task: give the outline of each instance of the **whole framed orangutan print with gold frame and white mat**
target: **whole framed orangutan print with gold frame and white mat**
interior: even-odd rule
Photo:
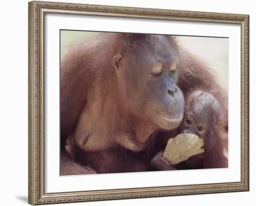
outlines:
[[[29,204],[249,191],[249,15],[28,7]]]

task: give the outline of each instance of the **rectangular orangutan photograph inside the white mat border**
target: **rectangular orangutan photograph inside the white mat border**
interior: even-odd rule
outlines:
[[[228,168],[229,38],[60,30],[60,175]]]

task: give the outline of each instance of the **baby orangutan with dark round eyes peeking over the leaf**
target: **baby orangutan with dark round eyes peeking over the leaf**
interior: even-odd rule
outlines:
[[[167,132],[169,138],[179,133],[191,133],[204,140],[204,153],[190,157],[175,167],[163,155],[163,150],[151,159],[151,166],[157,170],[202,169],[228,167],[225,156],[227,132],[222,127],[222,113],[218,101],[208,92],[195,91],[185,101],[184,118],[177,129],[178,133]]]

